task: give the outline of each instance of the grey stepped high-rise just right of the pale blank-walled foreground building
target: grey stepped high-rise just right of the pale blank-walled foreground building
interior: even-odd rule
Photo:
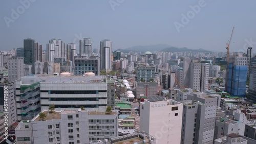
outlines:
[[[181,143],[213,143],[217,98],[206,93],[187,94],[183,103]]]

